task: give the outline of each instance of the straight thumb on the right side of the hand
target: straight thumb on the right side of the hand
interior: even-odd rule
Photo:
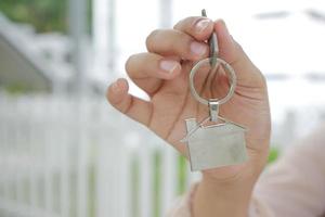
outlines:
[[[235,69],[238,86],[264,87],[263,75],[252,64],[240,44],[230,35],[224,21],[214,22],[214,31],[218,38],[219,56]]]

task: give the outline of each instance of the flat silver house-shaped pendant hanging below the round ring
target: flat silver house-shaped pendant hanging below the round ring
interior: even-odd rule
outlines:
[[[247,159],[245,131],[240,125],[225,120],[202,126],[195,118],[186,119],[192,171],[242,164]]]

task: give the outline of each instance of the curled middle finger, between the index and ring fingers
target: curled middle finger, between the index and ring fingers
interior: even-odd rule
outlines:
[[[154,30],[146,39],[147,50],[160,55],[176,55],[182,60],[197,61],[208,55],[205,42],[176,29]]]

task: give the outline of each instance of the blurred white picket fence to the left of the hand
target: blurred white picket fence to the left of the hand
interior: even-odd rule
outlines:
[[[199,178],[103,98],[0,97],[0,216],[158,217]]]

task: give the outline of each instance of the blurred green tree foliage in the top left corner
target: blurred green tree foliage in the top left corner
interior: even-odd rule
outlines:
[[[88,0],[88,26],[91,0]],[[68,33],[68,0],[0,0],[0,11],[10,20],[29,23],[39,33]]]

